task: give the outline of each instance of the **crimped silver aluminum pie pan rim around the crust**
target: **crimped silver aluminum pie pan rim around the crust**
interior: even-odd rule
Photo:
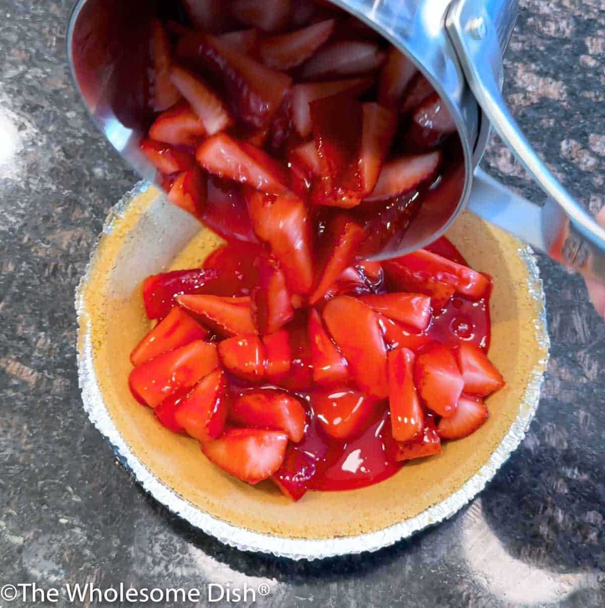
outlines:
[[[206,513],[198,506],[193,505],[192,502],[179,496],[176,491],[156,477],[140,460],[137,454],[134,453],[125,438],[120,434],[116,423],[106,407],[99,378],[97,378],[97,371],[95,370],[90,316],[86,310],[86,303],[83,297],[89,275],[94,271],[95,254],[103,238],[116,229],[117,224],[119,224],[120,219],[128,210],[133,200],[142,193],[147,192],[150,187],[150,184],[140,182],[131,192],[126,193],[122,201],[111,210],[97,246],[92,252],[91,261],[88,264],[85,275],[83,275],[78,286],[75,302],[78,315],[78,382],[83,406],[89,419],[109,441],[120,463],[133,475],[145,491],[162,503],[162,505],[166,506],[172,513],[186,520],[199,530],[204,531],[204,533],[215,537],[218,541],[245,551],[268,553],[294,560],[314,560],[377,551],[398,541],[407,539],[412,534],[440,523],[454,515],[485,488],[500,466],[508,459],[511,452],[519,446],[538,408],[544,370],[548,360],[548,349],[550,348],[542,281],[539,278],[536,258],[530,247],[527,246],[519,246],[517,254],[527,270],[527,292],[534,302],[536,311],[531,329],[534,332],[536,344],[538,344],[544,356],[530,370],[527,386],[525,386],[523,398],[519,403],[518,415],[503,436],[502,441],[500,441],[483,466],[468,478],[460,488],[449,494],[446,499],[428,506],[413,517],[384,527],[381,530],[356,534],[355,536],[303,539],[247,530],[245,527],[233,525],[232,523],[218,519],[218,517],[212,514]],[[195,229],[193,231],[195,232]],[[185,242],[192,234],[193,232],[191,234],[178,232],[177,227],[173,237]]]

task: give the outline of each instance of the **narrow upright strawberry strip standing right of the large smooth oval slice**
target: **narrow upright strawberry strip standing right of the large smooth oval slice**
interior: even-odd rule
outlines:
[[[389,351],[389,409],[393,439],[410,441],[424,429],[424,415],[414,385],[416,356],[407,348]]]

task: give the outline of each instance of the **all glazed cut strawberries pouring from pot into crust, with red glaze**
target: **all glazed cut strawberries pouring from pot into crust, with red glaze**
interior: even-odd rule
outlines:
[[[451,187],[454,122],[407,60],[328,2],[185,0],[144,28],[140,148],[221,235],[152,275],[129,384],[215,465],[292,500],[361,488],[486,420],[491,280],[446,238],[382,263]]]

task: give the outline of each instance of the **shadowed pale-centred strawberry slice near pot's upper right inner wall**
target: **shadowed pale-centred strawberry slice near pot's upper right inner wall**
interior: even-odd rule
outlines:
[[[300,71],[303,78],[365,74],[378,69],[385,54],[377,44],[347,40],[330,44],[311,57]]]

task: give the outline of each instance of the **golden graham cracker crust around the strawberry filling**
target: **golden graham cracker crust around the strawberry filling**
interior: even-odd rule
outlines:
[[[167,213],[153,187],[112,217],[80,288],[80,339],[85,323],[109,416],[151,475],[201,511],[247,530],[327,539],[382,530],[416,516],[460,489],[485,465],[524,407],[531,374],[546,356],[536,337],[538,303],[530,293],[519,241],[470,213],[447,236],[472,268],[494,278],[489,358],[506,385],[488,398],[488,421],[471,437],[444,444],[441,454],[410,461],[368,488],[313,491],[292,503],[272,482],[241,482],[212,465],[196,440],[162,427],[128,390],[130,351],[151,326],[140,283],[148,274],[197,266],[221,239],[178,209]]]

